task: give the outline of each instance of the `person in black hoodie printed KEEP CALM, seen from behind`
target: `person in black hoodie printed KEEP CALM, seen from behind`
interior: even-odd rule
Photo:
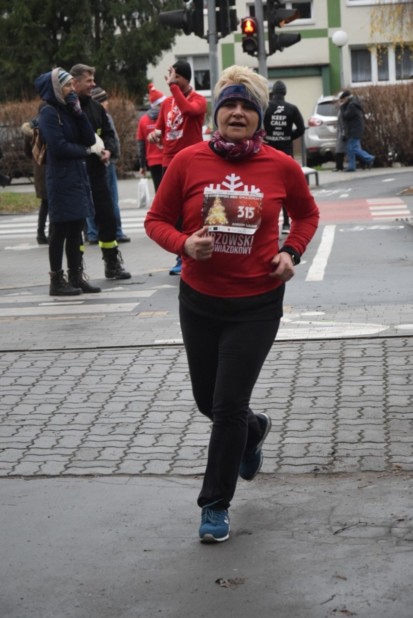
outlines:
[[[280,80],[275,82],[272,98],[264,115],[264,129],[267,132],[264,143],[294,158],[293,141],[304,134],[306,127],[298,107],[285,100],[286,93],[285,83]],[[288,234],[290,221],[284,206],[283,219],[282,234]]]

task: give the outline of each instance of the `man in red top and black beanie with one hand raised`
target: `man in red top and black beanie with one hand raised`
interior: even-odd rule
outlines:
[[[148,142],[162,143],[162,174],[178,152],[186,146],[202,142],[202,125],[207,109],[206,98],[198,95],[190,85],[192,72],[188,62],[178,60],[169,67],[168,72],[165,80],[171,96],[161,104],[156,129],[148,135]],[[178,256],[177,264],[169,274],[181,274],[181,256]]]

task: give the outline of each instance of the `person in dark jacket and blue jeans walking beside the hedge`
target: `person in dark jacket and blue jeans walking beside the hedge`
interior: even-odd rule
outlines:
[[[349,90],[344,90],[340,96],[343,101],[341,112],[343,114],[344,131],[347,138],[348,167],[346,172],[356,171],[356,157],[364,163],[365,167],[373,167],[375,156],[362,149],[361,140],[364,133],[364,112],[362,104]]]

